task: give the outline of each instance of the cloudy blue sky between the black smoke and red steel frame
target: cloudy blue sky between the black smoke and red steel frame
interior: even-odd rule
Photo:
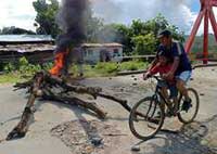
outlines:
[[[162,13],[169,22],[189,31],[195,20],[190,5],[195,0],[91,0],[97,16],[105,23],[130,24],[135,18],[150,20]]]

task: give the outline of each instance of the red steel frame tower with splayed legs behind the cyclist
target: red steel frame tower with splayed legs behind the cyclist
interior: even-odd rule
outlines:
[[[214,29],[214,35],[217,41],[217,23],[214,15],[213,7],[217,7],[217,0],[200,0],[201,1],[201,11],[197,15],[197,18],[193,25],[193,29],[191,35],[186,43],[186,51],[187,53],[190,52],[191,47],[193,44],[195,35],[199,30],[201,22],[204,17],[204,42],[203,42],[203,63],[208,63],[208,20],[210,20],[212,27]]]

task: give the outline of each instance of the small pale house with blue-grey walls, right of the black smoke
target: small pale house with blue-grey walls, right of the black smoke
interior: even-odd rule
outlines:
[[[84,43],[82,57],[85,63],[120,62],[123,46],[120,43]]]

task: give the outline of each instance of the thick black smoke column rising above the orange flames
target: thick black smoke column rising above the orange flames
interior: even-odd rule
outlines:
[[[79,43],[85,39],[88,11],[88,0],[62,0],[56,20],[64,33],[60,40],[68,38],[75,43]]]

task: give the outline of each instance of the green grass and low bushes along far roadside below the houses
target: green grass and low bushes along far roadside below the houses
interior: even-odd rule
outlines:
[[[129,61],[123,63],[100,62],[95,65],[82,65],[84,77],[106,77],[115,76],[118,72],[145,69],[148,62]],[[29,79],[36,72],[49,70],[52,63],[44,65],[30,64],[25,57],[21,57],[17,63],[9,63],[3,68],[3,74],[0,75],[0,84],[13,84]],[[72,76],[76,77],[79,74],[78,65],[72,65],[69,68]]]

